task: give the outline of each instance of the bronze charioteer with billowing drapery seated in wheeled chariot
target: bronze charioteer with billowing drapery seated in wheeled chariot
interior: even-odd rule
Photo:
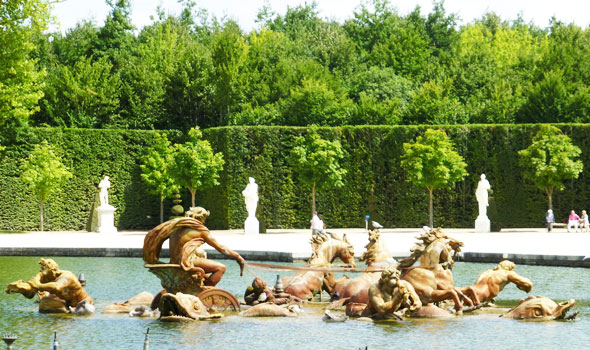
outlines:
[[[153,306],[161,307],[166,293],[183,293],[199,297],[209,310],[239,310],[239,303],[231,293],[212,288],[219,283],[226,268],[222,263],[207,259],[202,245],[207,243],[221,254],[235,259],[240,265],[240,275],[244,269],[244,258],[213,238],[204,225],[208,216],[209,211],[204,208],[192,208],[184,218],[160,224],[146,235],[143,245],[145,267],[160,279],[164,287],[164,291],[154,298]],[[168,264],[159,260],[162,244],[166,240],[169,240],[170,246]]]

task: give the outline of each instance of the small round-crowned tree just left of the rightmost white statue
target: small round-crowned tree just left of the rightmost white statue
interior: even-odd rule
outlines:
[[[432,192],[463,180],[467,176],[467,164],[444,131],[428,129],[415,143],[404,143],[401,166],[408,181],[428,189],[428,222],[434,227]]]

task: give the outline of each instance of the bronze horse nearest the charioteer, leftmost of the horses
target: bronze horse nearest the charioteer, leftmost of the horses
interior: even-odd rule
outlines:
[[[346,235],[341,238],[335,234],[318,234],[311,239],[313,253],[306,266],[328,266],[336,258],[345,264],[356,267],[354,263],[354,247]],[[282,279],[285,293],[289,293],[303,300],[310,300],[315,294],[325,290],[332,294],[334,288],[334,274],[322,271],[302,271],[293,276]]]

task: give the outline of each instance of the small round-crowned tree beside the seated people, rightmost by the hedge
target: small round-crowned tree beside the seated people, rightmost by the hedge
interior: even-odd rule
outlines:
[[[549,209],[553,209],[553,192],[564,188],[564,180],[577,179],[582,172],[584,164],[575,160],[581,153],[567,135],[550,125],[539,130],[529,147],[518,151],[523,176],[545,191]]]

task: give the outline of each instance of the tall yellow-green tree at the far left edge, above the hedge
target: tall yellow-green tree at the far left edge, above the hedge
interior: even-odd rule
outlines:
[[[0,143],[27,124],[43,97],[45,72],[35,66],[33,37],[47,28],[50,2],[8,0],[0,3]]]

